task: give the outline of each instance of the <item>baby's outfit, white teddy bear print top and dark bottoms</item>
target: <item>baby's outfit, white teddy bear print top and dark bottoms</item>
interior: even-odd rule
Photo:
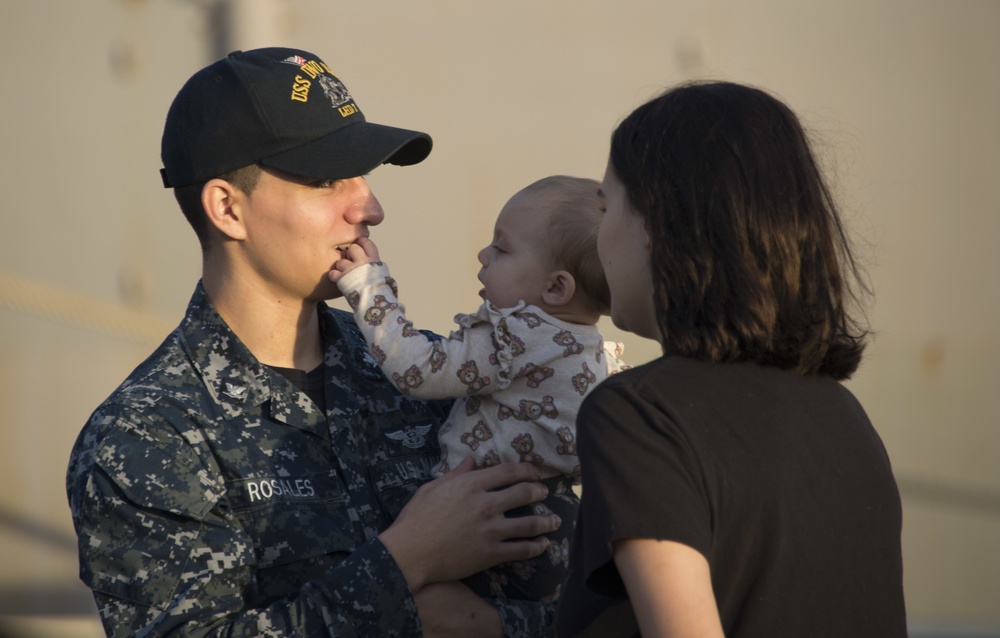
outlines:
[[[340,289],[383,373],[422,399],[454,398],[441,426],[440,476],[473,456],[476,467],[502,462],[539,466],[549,496],[530,506],[552,511],[562,526],[546,554],[504,563],[466,579],[484,597],[554,602],[567,574],[579,500],[576,415],[588,391],[627,366],[619,343],[605,343],[594,325],[568,323],[524,302],[484,302],[455,316],[447,338],[414,329],[396,282],[382,262],[345,274]],[[529,513],[516,510],[508,515]]]

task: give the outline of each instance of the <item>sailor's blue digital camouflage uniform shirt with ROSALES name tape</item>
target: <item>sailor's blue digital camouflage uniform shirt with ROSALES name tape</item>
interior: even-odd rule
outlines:
[[[199,284],[181,325],[91,416],[67,491],[111,636],[419,636],[378,540],[437,456],[447,404],[399,394],[349,313],[319,306],[326,414],[263,366]],[[491,601],[507,636],[551,606]]]

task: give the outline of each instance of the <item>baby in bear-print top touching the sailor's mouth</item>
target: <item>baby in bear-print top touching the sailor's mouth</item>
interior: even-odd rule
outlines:
[[[534,463],[549,487],[534,508],[563,524],[547,554],[467,579],[481,596],[550,602],[566,575],[579,504],[576,414],[591,388],[626,367],[621,344],[606,344],[596,326],[609,310],[597,259],[599,187],[553,176],[511,197],[479,251],[483,304],[457,315],[446,339],[407,320],[371,240],[352,244],[330,272],[385,375],[406,394],[457,399],[440,428],[436,475],[473,456],[477,467]]]

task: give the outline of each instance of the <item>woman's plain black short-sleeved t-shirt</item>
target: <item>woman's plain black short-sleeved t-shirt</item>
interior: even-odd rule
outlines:
[[[578,445],[559,636],[638,635],[612,555],[626,538],[701,552],[730,638],[906,635],[899,493],[836,381],[664,357],[588,396]]]

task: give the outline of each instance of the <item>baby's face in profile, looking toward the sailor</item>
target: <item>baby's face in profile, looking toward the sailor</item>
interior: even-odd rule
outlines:
[[[541,306],[553,272],[548,212],[538,195],[519,193],[500,211],[493,241],[479,251],[479,296],[498,308],[524,301]]]

